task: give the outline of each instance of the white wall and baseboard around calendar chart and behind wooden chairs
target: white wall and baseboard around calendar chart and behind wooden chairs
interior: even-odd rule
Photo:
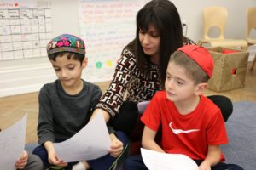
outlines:
[[[79,36],[79,0],[52,0],[53,37],[62,33]],[[203,35],[202,9],[224,6],[229,11],[225,35],[227,38],[245,39],[246,15],[255,0],[172,0],[188,25],[187,37],[197,42]],[[45,58],[0,61],[0,97],[38,91],[45,82],[55,80],[55,73]]]

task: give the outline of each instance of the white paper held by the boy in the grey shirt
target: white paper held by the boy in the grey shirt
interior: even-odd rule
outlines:
[[[111,140],[108,128],[102,114],[88,124],[70,139],[55,143],[55,152],[60,160],[83,161],[93,160],[108,154]]]

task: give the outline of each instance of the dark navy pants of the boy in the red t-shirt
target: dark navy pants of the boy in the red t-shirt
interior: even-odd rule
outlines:
[[[199,166],[201,161],[195,161],[195,163]],[[123,170],[148,170],[148,168],[143,163],[143,157],[141,155],[137,156],[130,156],[125,159],[123,162]],[[225,163],[218,163],[214,167],[211,168],[212,170],[243,170],[243,168],[239,167],[235,164],[225,164]]]

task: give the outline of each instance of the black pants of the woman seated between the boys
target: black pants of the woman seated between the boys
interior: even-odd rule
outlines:
[[[226,122],[233,111],[232,101],[222,95],[212,95],[207,97],[218,106],[224,117],[224,122]],[[134,131],[138,130],[134,128],[137,127],[139,122],[137,103],[125,101],[120,107],[119,114],[115,116],[110,123],[115,130],[125,132],[127,136],[131,137],[133,136],[132,133],[135,133]],[[141,132],[141,134],[142,133],[143,132]]]

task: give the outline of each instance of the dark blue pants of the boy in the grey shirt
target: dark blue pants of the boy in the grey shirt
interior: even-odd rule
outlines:
[[[117,135],[118,139],[124,144],[124,148],[125,148],[126,144],[128,144],[128,138],[125,135],[125,133],[117,131],[116,135]],[[36,147],[33,150],[32,153],[41,158],[45,167],[52,166],[51,164],[49,164],[47,150],[45,150],[44,146],[39,145],[38,147]],[[108,155],[102,156],[102,157],[100,157],[96,160],[90,160],[90,161],[87,161],[87,162],[89,163],[90,168],[93,169],[93,170],[105,170],[105,169],[107,170],[107,169],[109,169],[109,167],[112,166],[115,159],[116,159],[115,157],[110,156],[108,154]],[[68,163],[68,169],[72,169],[72,166],[76,163],[77,162],[69,162]]]

